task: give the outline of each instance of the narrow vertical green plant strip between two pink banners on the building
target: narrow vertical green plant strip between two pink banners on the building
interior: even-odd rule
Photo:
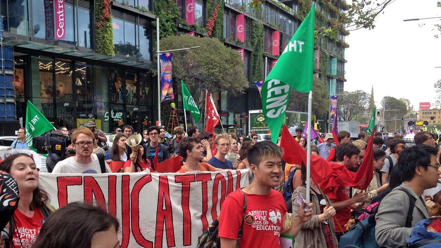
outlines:
[[[251,20],[251,81],[263,80],[263,24]]]

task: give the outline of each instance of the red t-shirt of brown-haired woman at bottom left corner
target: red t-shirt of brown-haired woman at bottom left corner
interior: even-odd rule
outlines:
[[[43,217],[39,208],[35,209],[32,218],[24,215],[18,209],[15,210],[13,216],[16,227],[14,234],[12,235],[13,246],[22,247],[23,245],[23,247],[30,247],[37,239],[41,226],[45,223],[45,217]]]

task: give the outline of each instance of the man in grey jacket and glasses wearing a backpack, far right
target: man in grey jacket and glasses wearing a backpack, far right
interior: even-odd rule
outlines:
[[[406,244],[412,227],[422,220],[429,218],[424,200],[421,197],[425,189],[437,185],[440,171],[436,160],[436,149],[427,145],[416,145],[407,148],[400,154],[397,173],[400,186],[392,189],[381,201],[376,215],[377,224],[375,237],[378,245],[383,245],[387,239]],[[392,180],[391,180],[392,181]],[[411,197],[407,195],[410,193]],[[406,227],[406,216],[409,211],[410,200],[415,201],[412,213],[411,227]]]

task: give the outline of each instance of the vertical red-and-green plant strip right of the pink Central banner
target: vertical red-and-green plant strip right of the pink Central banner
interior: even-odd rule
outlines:
[[[104,55],[115,56],[112,15],[110,14],[110,0],[96,0],[95,9],[96,52]]]

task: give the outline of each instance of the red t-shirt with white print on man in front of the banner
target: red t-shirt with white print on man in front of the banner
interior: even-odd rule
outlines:
[[[239,247],[280,247],[283,217],[286,204],[276,190],[268,195],[247,194],[242,237]],[[237,239],[244,210],[244,195],[236,190],[230,193],[222,205],[219,215],[219,237]]]

